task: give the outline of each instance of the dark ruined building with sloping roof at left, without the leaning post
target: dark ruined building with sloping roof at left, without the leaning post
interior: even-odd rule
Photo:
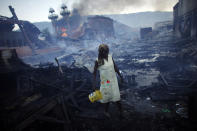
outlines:
[[[13,31],[15,24],[22,24],[25,32]],[[0,16],[0,49],[14,48],[19,56],[30,55],[32,54],[30,42],[39,46],[37,39],[39,34],[40,30],[28,21]]]

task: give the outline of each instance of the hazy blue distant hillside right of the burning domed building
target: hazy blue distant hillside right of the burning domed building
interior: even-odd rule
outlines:
[[[133,28],[153,27],[156,22],[173,20],[173,12],[139,12],[104,16]]]

